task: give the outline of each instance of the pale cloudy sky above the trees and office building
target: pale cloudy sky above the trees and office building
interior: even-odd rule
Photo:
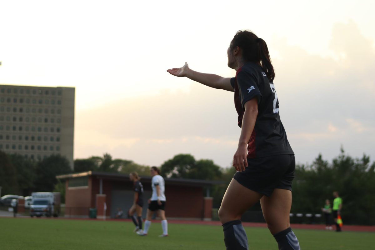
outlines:
[[[339,5],[338,5],[339,4]],[[233,93],[166,69],[225,77],[237,30],[266,40],[299,163],[343,145],[375,160],[374,1],[3,1],[0,84],[76,88],[74,158],[160,165],[178,153],[230,166]]]

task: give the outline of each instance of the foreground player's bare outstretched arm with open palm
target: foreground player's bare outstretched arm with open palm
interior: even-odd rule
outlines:
[[[174,76],[183,77],[186,76],[193,81],[199,82],[203,85],[206,85],[211,88],[217,88],[222,90],[234,91],[231,85],[231,78],[225,78],[214,74],[206,74],[201,72],[196,72],[192,69],[189,69],[187,63],[180,68],[168,69],[168,73]]]

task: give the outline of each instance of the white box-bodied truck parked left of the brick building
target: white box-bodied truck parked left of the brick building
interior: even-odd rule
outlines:
[[[59,192],[35,192],[31,193],[33,203],[30,205],[31,217],[58,217],[60,214]]]

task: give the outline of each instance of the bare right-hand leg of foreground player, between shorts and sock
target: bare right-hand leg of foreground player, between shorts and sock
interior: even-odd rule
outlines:
[[[264,219],[271,234],[290,227],[289,214],[292,206],[292,192],[287,189],[275,189],[270,197],[260,199]]]

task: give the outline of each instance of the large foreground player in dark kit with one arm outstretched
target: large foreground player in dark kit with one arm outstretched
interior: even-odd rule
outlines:
[[[237,172],[219,209],[226,249],[249,248],[240,219],[260,201],[264,219],[279,249],[299,250],[289,223],[296,163],[280,120],[273,83],[275,71],[267,44],[251,31],[238,31],[227,54],[228,66],[236,70],[234,78],[196,72],[187,63],[167,70],[174,76],[186,76],[208,87],[234,92],[241,134],[233,156]]]

